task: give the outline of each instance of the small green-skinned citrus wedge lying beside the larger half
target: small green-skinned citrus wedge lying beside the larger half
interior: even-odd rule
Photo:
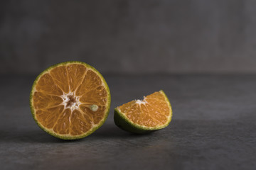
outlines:
[[[146,133],[165,128],[171,122],[172,110],[164,91],[114,108],[114,123],[128,132]]]

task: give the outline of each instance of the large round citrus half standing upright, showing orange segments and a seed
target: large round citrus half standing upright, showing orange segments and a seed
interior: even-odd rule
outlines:
[[[110,89],[100,72],[84,62],[62,62],[33,83],[31,112],[50,135],[76,140],[100,128],[110,111]]]

